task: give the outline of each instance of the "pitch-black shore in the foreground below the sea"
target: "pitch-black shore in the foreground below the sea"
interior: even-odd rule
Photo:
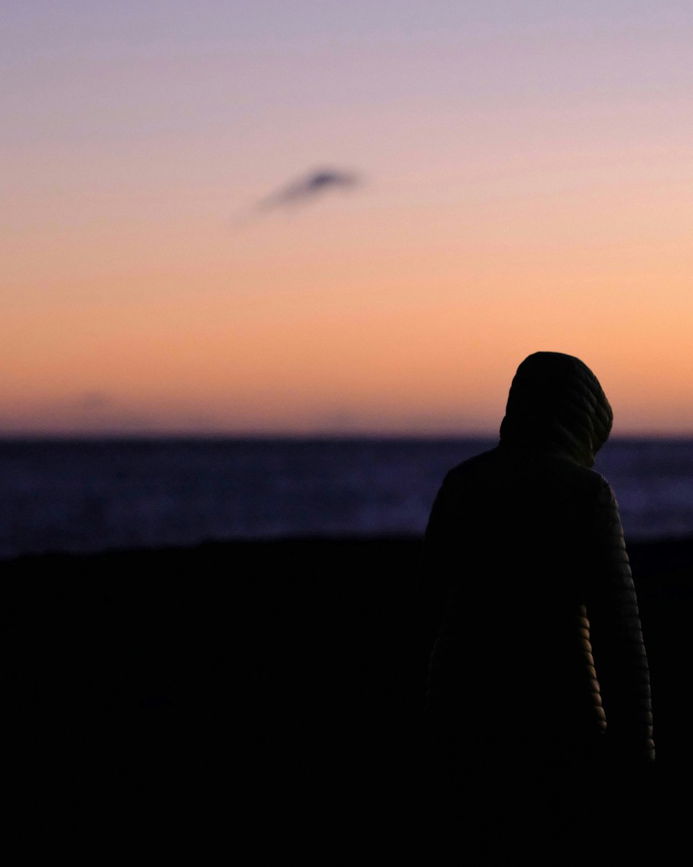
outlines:
[[[332,862],[375,830],[391,853],[433,845],[416,758],[419,551],[304,540],[0,564],[16,812],[42,834],[53,820],[113,845],[137,826],[161,845],[224,838],[232,851],[244,832],[257,857],[324,838]],[[633,786],[667,864],[690,812],[693,540],[629,552],[657,744],[655,772]],[[465,815],[449,817],[462,850]]]

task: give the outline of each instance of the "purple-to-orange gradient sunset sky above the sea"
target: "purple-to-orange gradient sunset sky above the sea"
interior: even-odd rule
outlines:
[[[693,6],[6,0],[0,433],[693,435]]]

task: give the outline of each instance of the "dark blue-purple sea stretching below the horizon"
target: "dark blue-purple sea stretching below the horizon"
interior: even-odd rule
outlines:
[[[497,440],[0,440],[0,557],[292,536],[417,535]],[[626,540],[693,536],[693,440],[612,440]]]

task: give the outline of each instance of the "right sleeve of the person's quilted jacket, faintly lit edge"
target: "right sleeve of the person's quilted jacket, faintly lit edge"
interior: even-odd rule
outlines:
[[[614,758],[625,763],[652,761],[647,655],[619,507],[606,479],[599,489],[594,531],[594,568],[586,607],[607,742]]]

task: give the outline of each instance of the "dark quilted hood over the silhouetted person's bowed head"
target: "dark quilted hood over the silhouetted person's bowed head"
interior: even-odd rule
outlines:
[[[612,407],[586,364],[573,355],[535,352],[510,386],[501,443],[558,452],[593,466],[612,421]]]

